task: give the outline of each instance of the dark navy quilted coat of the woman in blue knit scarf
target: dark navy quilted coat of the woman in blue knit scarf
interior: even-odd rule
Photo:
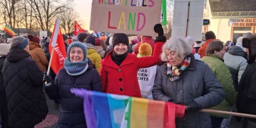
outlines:
[[[51,99],[60,99],[61,113],[57,128],[86,128],[83,109],[83,98],[71,94],[71,88],[83,88],[102,92],[100,76],[91,62],[88,69],[81,75],[70,76],[62,68],[51,86],[44,86],[45,93]],[[71,77],[74,79],[72,81]]]

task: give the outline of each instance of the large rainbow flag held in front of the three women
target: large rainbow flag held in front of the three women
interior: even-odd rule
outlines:
[[[175,118],[182,118],[186,107],[171,102],[85,89],[70,91],[84,98],[88,128],[175,128]]]

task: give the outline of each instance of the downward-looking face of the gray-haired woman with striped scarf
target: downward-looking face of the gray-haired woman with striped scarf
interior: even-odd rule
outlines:
[[[165,50],[165,55],[167,57],[167,61],[169,61],[169,63],[173,66],[179,66],[183,63],[184,61],[184,57],[182,57],[181,59],[177,57],[177,55],[175,54],[175,52],[170,51],[170,50]]]

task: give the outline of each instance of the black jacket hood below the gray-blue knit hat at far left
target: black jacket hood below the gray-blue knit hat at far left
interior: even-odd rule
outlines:
[[[15,63],[26,57],[30,57],[30,54],[25,50],[20,48],[11,48],[6,56],[6,59],[10,63]]]

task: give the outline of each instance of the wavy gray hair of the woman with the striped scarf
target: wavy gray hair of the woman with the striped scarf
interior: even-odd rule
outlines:
[[[160,58],[162,61],[166,62],[167,57],[165,50],[170,50],[175,52],[179,59],[186,57],[191,54],[192,47],[190,44],[182,38],[171,38],[162,46],[162,53]]]

